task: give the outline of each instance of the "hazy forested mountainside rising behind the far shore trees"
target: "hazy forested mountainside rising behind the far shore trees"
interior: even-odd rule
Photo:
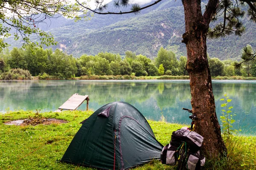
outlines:
[[[116,9],[110,3],[108,11]],[[61,22],[59,22],[61,21]],[[244,19],[246,32],[237,37],[208,40],[207,51],[210,57],[219,59],[239,59],[241,49],[250,44],[256,47],[256,24]],[[149,58],[157,55],[160,47],[176,53],[177,58],[186,56],[185,44],[181,43],[184,28],[184,12],[181,1],[166,0],[138,15],[97,15],[91,20],[74,22],[64,18],[52,21],[49,28],[61,48],[67,54],[80,57],[82,54],[96,55],[99,52],[119,53],[133,51]],[[58,27],[59,25],[59,27]],[[46,25],[41,25],[44,30]],[[10,40],[12,46],[21,46],[21,41]]]

